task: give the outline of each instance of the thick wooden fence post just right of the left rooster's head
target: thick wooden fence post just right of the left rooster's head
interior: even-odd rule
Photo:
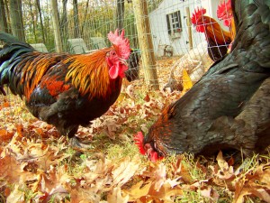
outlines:
[[[132,3],[138,30],[139,49],[141,50],[144,77],[148,85],[155,89],[159,89],[157,80],[156,59],[154,55],[150,23],[148,19],[147,1],[133,0]]]

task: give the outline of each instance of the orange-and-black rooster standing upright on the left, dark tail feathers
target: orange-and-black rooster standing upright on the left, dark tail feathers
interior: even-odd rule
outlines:
[[[121,92],[128,69],[130,42],[124,31],[108,34],[111,48],[88,54],[43,53],[14,36],[0,32],[0,91],[6,84],[14,95],[25,98],[32,115],[56,126],[70,143],[78,126],[103,115]]]

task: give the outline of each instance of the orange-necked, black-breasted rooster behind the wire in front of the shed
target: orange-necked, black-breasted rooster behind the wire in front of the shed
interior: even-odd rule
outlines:
[[[208,54],[213,61],[220,60],[228,51],[231,41],[230,32],[222,30],[220,24],[213,18],[204,15],[206,9],[195,9],[192,16],[192,23],[197,32],[204,32],[208,43]]]

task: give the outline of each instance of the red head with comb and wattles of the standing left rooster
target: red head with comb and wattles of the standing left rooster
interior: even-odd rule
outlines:
[[[118,34],[118,30],[108,34],[108,39],[112,42],[113,50],[108,52],[106,60],[110,66],[109,74],[111,78],[125,77],[125,71],[128,69],[126,60],[130,57],[130,41],[124,38],[124,30]]]

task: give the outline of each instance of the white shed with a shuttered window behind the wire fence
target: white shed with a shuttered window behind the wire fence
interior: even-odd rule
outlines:
[[[161,2],[157,9],[149,14],[155,54],[163,56],[166,45],[173,47],[174,55],[182,55],[189,51],[186,7],[189,8],[192,16],[194,8],[202,6],[206,9],[207,15],[219,22],[216,14],[219,4],[219,0],[164,0]],[[193,47],[205,41],[204,33],[196,32],[193,27],[192,37]]]

